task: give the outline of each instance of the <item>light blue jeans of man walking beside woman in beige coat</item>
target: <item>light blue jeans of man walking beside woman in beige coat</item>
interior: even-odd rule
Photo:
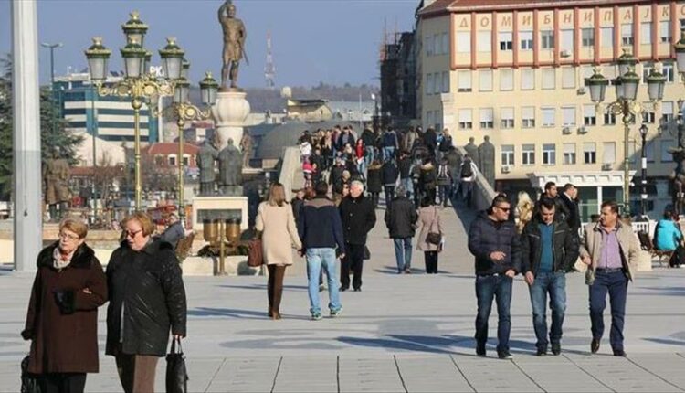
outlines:
[[[328,308],[331,311],[338,311],[342,308],[340,303],[340,292],[338,292],[338,276],[335,259],[335,249],[308,249],[307,250],[307,272],[309,273],[310,313],[321,313],[319,304],[319,273],[321,267],[326,271],[328,277]]]

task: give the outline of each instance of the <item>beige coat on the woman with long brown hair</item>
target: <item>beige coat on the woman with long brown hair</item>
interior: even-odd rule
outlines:
[[[291,265],[292,245],[302,248],[295,218],[290,204],[270,206],[268,202],[259,204],[255,228],[262,232],[261,244],[264,263],[268,265]]]

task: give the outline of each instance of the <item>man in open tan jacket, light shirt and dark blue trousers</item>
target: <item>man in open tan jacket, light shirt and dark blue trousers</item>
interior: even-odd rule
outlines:
[[[639,243],[633,228],[622,224],[616,201],[602,204],[599,222],[585,226],[580,256],[588,268],[585,283],[590,286],[590,321],[595,354],[604,334],[606,293],[611,302],[611,333],[609,341],[614,356],[626,356],[623,347],[623,324],[626,317],[628,281],[635,277]]]

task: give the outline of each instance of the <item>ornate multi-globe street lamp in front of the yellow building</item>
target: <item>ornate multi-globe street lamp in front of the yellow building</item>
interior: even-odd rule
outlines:
[[[685,45],[683,45],[685,48]],[[685,58],[683,59],[685,61]],[[637,58],[630,55],[627,50],[618,58],[618,69],[620,75],[613,81],[616,88],[617,101],[607,104],[607,111],[617,115],[623,115],[624,128],[624,174],[623,174],[623,204],[624,212],[630,213],[630,158],[628,156],[630,140],[630,124],[635,121],[638,113],[646,111],[645,105],[636,101],[638,97],[638,86],[640,77],[635,72]],[[585,80],[590,89],[590,99],[597,106],[605,101],[607,80],[595,69],[595,74]],[[656,106],[663,99],[664,83],[666,78],[656,70],[652,69],[647,78],[648,96],[653,106]],[[642,132],[642,130],[640,130]],[[644,209],[643,209],[644,214]]]

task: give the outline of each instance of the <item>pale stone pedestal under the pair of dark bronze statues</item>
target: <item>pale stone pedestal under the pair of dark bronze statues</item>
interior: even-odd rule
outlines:
[[[240,219],[240,229],[248,229],[248,197],[194,197],[193,230],[202,231],[204,219]]]

